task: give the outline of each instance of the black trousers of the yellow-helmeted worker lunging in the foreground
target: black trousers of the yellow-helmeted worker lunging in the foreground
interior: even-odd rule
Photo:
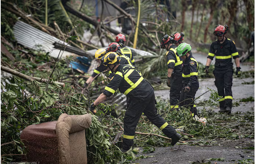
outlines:
[[[144,113],[153,124],[160,128],[167,137],[172,138],[174,134],[177,133],[176,130],[157,113],[154,93],[145,100],[131,98],[131,103],[124,116],[124,150],[129,150],[130,147],[133,146],[135,129],[142,113]]]

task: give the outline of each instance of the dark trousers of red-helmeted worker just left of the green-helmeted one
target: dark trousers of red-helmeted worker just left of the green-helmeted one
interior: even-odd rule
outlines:
[[[171,87],[170,87],[170,105],[171,108],[178,108],[178,100],[180,99],[180,92],[182,90],[182,76],[174,75],[171,78]]]

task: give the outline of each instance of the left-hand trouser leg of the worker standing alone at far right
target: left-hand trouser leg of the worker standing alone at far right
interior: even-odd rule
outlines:
[[[215,86],[217,87],[218,90],[218,95],[222,96],[224,98],[225,93],[224,93],[224,74],[223,71],[218,71],[218,70],[214,70],[213,74],[215,76]],[[219,99],[219,107],[220,108],[224,108],[225,106],[225,99]]]

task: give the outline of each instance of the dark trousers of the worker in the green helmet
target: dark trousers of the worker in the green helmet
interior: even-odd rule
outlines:
[[[184,106],[185,108],[188,108],[188,106],[190,106],[190,111],[192,113],[192,116],[195,116],[197,115],[196,105],[189,105],[189,104],[195,104],[195,102],[193,101],[195,100],[196,91],[199,88],[199,82],[191,85],[188,93],[184,93],[185,86],[186,85],[183,85],[183,88],[180,93],[180,102],[184,101],[185,99],[188,99],[188,100],[185,100],[184,102],[182,102],[180,106]]]

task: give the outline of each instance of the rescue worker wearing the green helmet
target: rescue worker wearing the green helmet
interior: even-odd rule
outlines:
[[[193,101],[195,100],[196,91],[199,88],[199,82],[197,79],[198,75],[198,64],[195,58],[193,58],[191,53],[191,46],[187,43],[181,43],[177,47],[177,53],[183,60],[182,67],[182,84],[183,88],[180,94],[180,102],[182,106],[186,108],[190,106],[190,111],[193,117],[197,115],[196,105]],[[189,105],[191,104],[191,105]]]

